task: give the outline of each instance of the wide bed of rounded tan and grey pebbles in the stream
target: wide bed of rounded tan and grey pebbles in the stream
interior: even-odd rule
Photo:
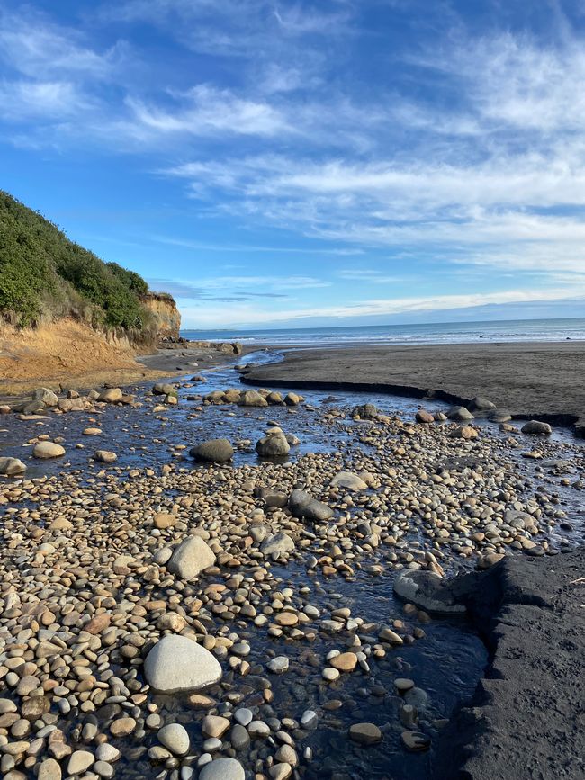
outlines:
[[[127,398],[110,390],[104,402]],[[112,468],[85,454],[79,468],[38,463],[47,477],[27,480],[20,471],[0,481],[3,776],[303,776],[310,731],[317,746],[320,729],[349,729],[347,751],[383,740],[374,723],[348,720],[373,717],[392,691],[398,707],[384,710],[384,731],[401,733],[405,749],[428,749],[418,731],[429,724],[428,695],[393,676],[418,676],[418,662],[411,668],[401,646],[424,641],[430,617],[406,605],[401,615],[370,622],[367,600],[349,603],[345,595],[389,569],[441,577],[454,561],[488,567],[505,555],[563,548],[551,537],[564,530],[559,477],[567,471],[550,465],[560,462],[563,444],[540,438],[527,460],[499,431],[467,425],[464,413],[455,415],[463,425],[430,425],[444,417],[437,412],[415,425],[364,406],[354,422],[347,409],[326,404],[305,418],[278,393],[254,392],[286,414],[284,430],[294,426],[289,446],[316,431],[322,415],[338,452],[297,459],[291,451],[286,464],[211,459],[193,471],[180,425],[166,427],[168,408],[154,417],[151,397],[139,391],[141,407],[117,406],[103,417],[132,437],[130,446],[118,444]],[[249,415],[234,444],[221,444],[228,462],[230,453],[253,453],[253,426],[266,428],[267,438],[282,435],[264,403],[238,409],[236,395],[225,410],[193,399],[172,411],[228,435],[229,414]],[[73,462],[75,431],[103,433],[95,425],[101,408],[85,408],[78,427],[58,408],[18,420],[22,430],[31,426],[27,457],[65,454],[65,444]],[[156,420],[154,437],[139,427],[141,414]],[[570,490],[582,469],[572,455],[566,462]],[[288,656],[270,658],[268,650],[263,658],[266,634]],[[236,752],[241,762],[230,758]],[[323,771],[341,776],[344,760],[331,752]]]

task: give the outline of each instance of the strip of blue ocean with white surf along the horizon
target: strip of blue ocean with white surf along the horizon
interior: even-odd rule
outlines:
[[[181,331],[193,341],[239,341],[246,345],[340,346],[352,344],[468,344],[475,341],[566,341],[585,339],[585,318],[510,319],[425,325],[353,327],[226,328]]]

